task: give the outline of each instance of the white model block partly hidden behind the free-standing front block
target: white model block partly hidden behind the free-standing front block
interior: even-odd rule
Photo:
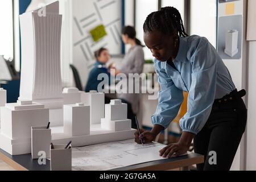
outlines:
[[[96,91],[82,93],[81,102],[90,106],[90,124],[100,124],[105,115],[105,94]]]

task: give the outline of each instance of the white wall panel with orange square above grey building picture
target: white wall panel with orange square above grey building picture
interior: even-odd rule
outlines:
[[[242,2],[219,0],[217,51],[223,60],[240,60],[242,57]]]

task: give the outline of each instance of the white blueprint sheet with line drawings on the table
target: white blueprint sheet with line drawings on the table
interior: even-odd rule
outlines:
[[[134,139],[72,149],[74,171],[103,171],[164,159],[160,143],[137,144]]]

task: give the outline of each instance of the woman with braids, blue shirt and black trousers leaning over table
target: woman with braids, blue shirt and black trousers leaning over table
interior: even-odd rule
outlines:
[[[174,7],[148,15],[143,29],[161,90],[151,117],[154,127],[135,133],[135,142],[151,142],[166,129],[180,109],[183,92],[188,92],[188,110],[180,119],[181,138],[160,150],[160,156],[185,154],[193,140],[195,152],[205,156],[197,169],[229,170],[246,127],[245,90],[237,91],[228,68],[206,38],[186,34]]]

